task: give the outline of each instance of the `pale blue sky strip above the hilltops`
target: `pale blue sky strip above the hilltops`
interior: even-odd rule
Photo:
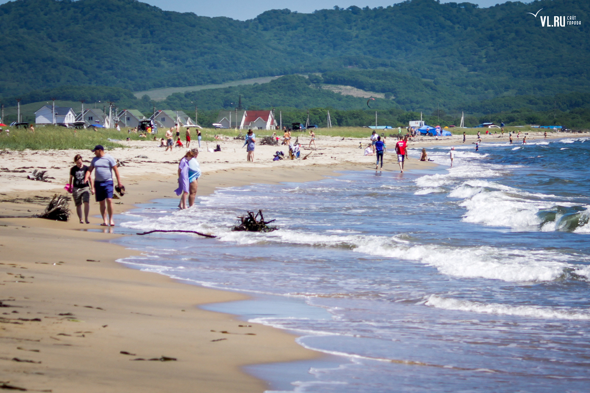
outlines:
[[[480,7],[489,7],[501,4],[506,0],[454,0],[457,3],[470,2],[478,4]],[[0,4],[6,3],[7,0],[0,0]],[[388,6],[401,2],[401,0],[254,0],[246,2],[244,0],[144,0],[151,5],[155,5],[166,11],[194,12],[201,16],[228,16],[229,18],[246,19],[255,18],[269,9],[289,8],[297,12],[313,12],[316,9],[333,8],[338,5],[342,8],[348,8],[351,5],[363,8],[369,6],[375,8],[378,6]],[[447,2],[442,0],[442,2]]]

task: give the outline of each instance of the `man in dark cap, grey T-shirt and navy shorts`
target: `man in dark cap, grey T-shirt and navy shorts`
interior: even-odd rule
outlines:
[[[94,174],[94,196],[96,197],[96,202],[100,204],[100,215],[103,216],[101,226],[114,226],[112,170],[114,170],[114,175],[117,177],[117,186],[123,188],[119,177],[117,161],[110,154],[105,154],[104,147],[101,145],[94,146],[92,151],[95,157],[90,162],[90,166],[86,171],[84,183],[90,179],[90,174],[96,169],[96,174]],[[108,222],[107,213],[109,213]]]

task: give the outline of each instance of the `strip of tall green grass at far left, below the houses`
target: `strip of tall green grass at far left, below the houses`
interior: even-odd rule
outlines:
[[[105,148],[123,147],[118,141],[124,141],[127,137],[132,140],[145,140],[139,134],[113,129],[99,128],[93,131],[91,128],[85,130],[74,130],[58,126],[38,126],[35,133],[28,128],[9,128],[10,133],[0,133],[0,148],[11,150],[61,150],[61,149],[90,149],[97,144]],[[149,137],[148,137],[149,138]],[[153,136],[151,137],[153,139]],[[110,139],[110,140],[109,140]]]

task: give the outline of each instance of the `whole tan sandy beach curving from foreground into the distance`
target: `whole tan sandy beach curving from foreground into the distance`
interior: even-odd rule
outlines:
[[[467,143],[476,139],[467,138]],[[540,138],[542,133],[527,136],[530,141]],[[424,138],[409,147],[450,146],[461,140]],[[506,140],[484,137],[484,143]],[[301,143],[307,142],[308,137],[301,137]],[[185,149],[170,153],[155,141],[122,143],[128,147],[108,152],[123,162],[120,173],[127,189],[114,201],[116,213],[175,197],[176,168]],[[216,153],[202,143],[198,196],[219,187],[311,181],[339,170],[375,169],[375,156],[362,156],[359,148],[359,143],[366,147],[368,138],[317,137],[317,148],[302,152],[311,153],[306,160],[272,161],[274,151],[285,147],[257,146],[254,163],[245,161],[243,141],[217,143],[222,151]],[[91,202],[90,224],[78,224],[75,211],[69,222],[14,218],[38,214],[53,194],[65,194],[78,153],[87,161],[92,157],[90,151],[78,150],[0,151],[0,386],[53,392],[261,392],[266,382],[245,374],[242,366],[318,356],[283,331],[198,308],[245,295],[186,285],[117,263],[136,251],[109,243],[120,235],[117,227],[99,226],[97,203]],[[386,154],[384,170],[399,171],[394,157]],[[406,170],[435,165],[410,159]],[[47,170],[51,183],[28,180],[33,169]]]

